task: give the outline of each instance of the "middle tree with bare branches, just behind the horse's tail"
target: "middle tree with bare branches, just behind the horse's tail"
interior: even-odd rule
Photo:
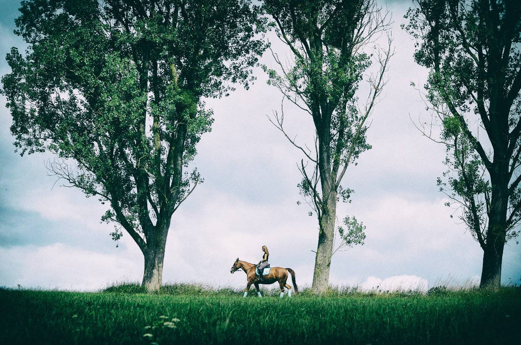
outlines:
[[[283,127],[283,106],[281,114],[274,112],[271,119],[307,161],[300,162],[299,188],[318,219],[313,289],[323,292],[329,281],[337,203],[348,201],[352,192],[340,183],[348,166],[370,149],[366,121],[386,83],[391,40],[388,36],[384,50],[374,44],[388,29],[389,18],[374,0],[266,0],[264,6],[293,59],[288,65],[274,53],[279,71],[265,68],[269,83],[280,90],[283,100],[310,115],[315,127],[315,142],[299,144]],[[376,55],[369,46],[374,46]],[[377,72],[368,77],[369,95],[361,104],[357,90],[375,59]]]

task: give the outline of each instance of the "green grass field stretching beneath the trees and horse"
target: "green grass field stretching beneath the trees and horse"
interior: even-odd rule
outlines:
[[[515,287],[303,291],[291,299],[187,285],[141,292],[132,285],[97,293],[0,289],[0,344],[521,343]]]

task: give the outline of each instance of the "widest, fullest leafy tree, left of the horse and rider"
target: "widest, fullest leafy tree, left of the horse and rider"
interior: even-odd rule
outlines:
[[[252,81],[265,20],[247,0],[32,0],[2,78],[15,146],[57,155],[48,168],[110,205],[158,290],[173,213],[201,178],[187,171],[230,83]]]

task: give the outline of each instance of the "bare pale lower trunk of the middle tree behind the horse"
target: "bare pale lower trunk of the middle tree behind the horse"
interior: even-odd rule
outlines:
[[[325,292],[329,286],[329,269],[333,255],[334,225],[337,214],[337,194],[331,193],[319,219],[318,246],[315,256],[315,272],[312,289],[315,293]]]

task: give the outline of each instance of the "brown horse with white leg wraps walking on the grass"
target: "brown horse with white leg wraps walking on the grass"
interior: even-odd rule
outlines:
[[[295,282],[295,272],[291,268],[271,267],[269,274],[263,276],[262,280],[257,278],[254,264],[241,261],[239,258],[237,258],[237,260],[235,260],[231,266],[230,273],[235,273],[238,269],[242,269],[246,273],[246,279],[248,280],[246,284],[246,291],[244,291],[243,297],[246,297],[252,284],[255,285],[258,297],[262,297],[259,284],[273,284],[276,281],[278,281],[280,285],[280,298],[282,298],[284,295],[284,288],[288,289],[288,297],[291,297],[291,286],[286,284],[286,280],[288,280],[288,273],[291,274],[291,280],[293,281],[293,286],[295,287],[295,293],[299,293],[299,288],[296,286]]]

